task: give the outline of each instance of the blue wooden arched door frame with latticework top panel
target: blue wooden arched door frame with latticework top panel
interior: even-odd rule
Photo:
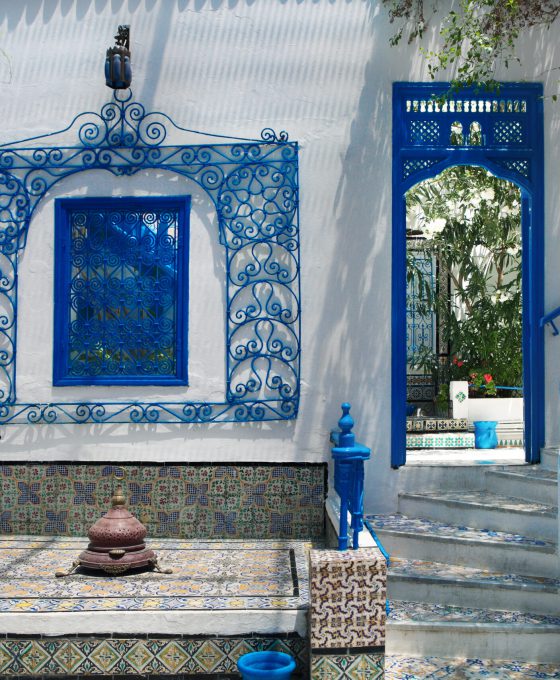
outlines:
[[[537,463],[544,444],[543,89],[502,83],[499,93],[465,88],[444,99],[449,88],[393,85],[391,465],[406,462],[406,192],[456,165],[482,166],[521,189],[525,457]],[[457,124],[459,143],[451,140]]]

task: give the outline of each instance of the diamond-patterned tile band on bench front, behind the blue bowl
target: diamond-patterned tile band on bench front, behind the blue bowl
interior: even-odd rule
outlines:
[[[192,676],[232,673],[237,660],[254,651],[281,651],[308,664],[300,637],[251,638],[17,638],[0,639],[2,677]],[[238,677],[238,676],[237,676]]]

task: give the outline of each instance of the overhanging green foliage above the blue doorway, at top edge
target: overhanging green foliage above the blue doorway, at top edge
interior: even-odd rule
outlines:
[[[409,43],[421,41],[439,4],[437,0],[382,2],[391,22],[396,22],[393,45],[403,38]],[[455,67],[453,90],[462,85],[496,89],[497,66],[519,62],[515,48],[520,35],[534,27],[549,28],[559,14],[560,0],[459,0],[456,9],[441,16],[441,46],[435,51],[421,47],[430,76],[435,79],[440,71]]]

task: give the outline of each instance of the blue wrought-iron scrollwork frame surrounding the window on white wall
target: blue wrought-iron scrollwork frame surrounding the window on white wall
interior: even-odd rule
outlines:
[[[213,141],[177,144],[184,133]],[[61,143],[68,135],[74,143]],[[174,143],[164,145],[171,138]],[[224,402],[18,403],[16,273],[35,208],[56,182],[77,172],[133,175],[152,168],[196,182],[216,208],[226,250]],[[246,139],[187,130],[166,114],[146,113],[130,90],[117,90],[100,113],[0,146],[0,423],[292,419],[299,404],[299,338],[298,145],[285,132],[266,129],[261,139]]]

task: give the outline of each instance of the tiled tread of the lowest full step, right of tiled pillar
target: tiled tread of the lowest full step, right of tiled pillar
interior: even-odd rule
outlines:
[[[526,614],[525,612],[497,611],[493,609],[471,609],[431,602],[405,602],[391,600],[389,620],[391,621],[453,621],[461,623],[510,623],[558,626],[560,616],[547,614]],[[560,634],[560,630],[559,630]]]

